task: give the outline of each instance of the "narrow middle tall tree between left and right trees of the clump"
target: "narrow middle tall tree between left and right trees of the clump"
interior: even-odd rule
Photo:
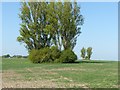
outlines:
[[[52,44],[61,50],[61,37],[60,37],[60,15],[62,9],[62,2],[50,2],[47,8],[47,21],[49,24],[46,26],[46,30],[51,35]]]

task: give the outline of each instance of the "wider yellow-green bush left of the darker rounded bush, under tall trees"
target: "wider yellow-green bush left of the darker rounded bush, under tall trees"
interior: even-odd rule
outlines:
[[[33,63],[54,62],[60,57],[60,51],[57,47],[46,47],[40,50],[31,50],[29,59]]]

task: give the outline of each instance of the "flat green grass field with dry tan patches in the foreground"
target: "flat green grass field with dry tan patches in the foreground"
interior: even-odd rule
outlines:
[[[2,87],[117,88],[117,61],[33,64],[27,59],[2,60]]]

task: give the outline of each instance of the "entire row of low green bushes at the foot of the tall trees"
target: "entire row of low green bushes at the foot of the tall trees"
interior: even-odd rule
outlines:
[[[40,50],[31,50],[29,59],[33,63],[45,63],[45,62],[59,62],[59,63],[73,63],[77,60],[75,53],[70,50],[63,50],[62,52],[56,47],[46,47]]]

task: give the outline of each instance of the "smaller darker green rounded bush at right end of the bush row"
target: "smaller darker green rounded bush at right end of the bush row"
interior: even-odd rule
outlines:
[[[61,63],[73,63],[75,60],[77,60],[76,54],[72,50],[68,49],[62,51],[58,61]]]

